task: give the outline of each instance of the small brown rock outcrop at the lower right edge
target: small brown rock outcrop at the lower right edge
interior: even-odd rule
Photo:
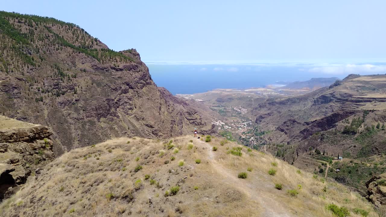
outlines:
[[[386,173],[372,176],[366,182],[367,198],[377,207],[386,206]]]

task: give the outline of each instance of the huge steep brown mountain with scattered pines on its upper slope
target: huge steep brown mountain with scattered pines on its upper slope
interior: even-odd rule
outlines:
[[[0,112],[52,128],[56,156],[112,137],[213,130],[212,115],[158,88],[135,49],[78,25],[0,12]]]

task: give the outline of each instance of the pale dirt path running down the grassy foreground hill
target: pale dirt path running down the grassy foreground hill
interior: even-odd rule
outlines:
[[[291,217],[291,215],[288,214],[288,209],[283,207],[283,204],[279,204],[278,201],[274,200],[274,195],[266,192],[269,187],[266,186],[264,181],[254,177],[252,181],[258,183],[251,183],[251,180],[242,180],[237,178],[237,174],[235,174],[234,171],[225,168],[222,164],[215,160],[215,153],[213,153],[212,146],[210,146],[210,144],[200,140],[195,142],[195,144],[200,147],[204,147],[207,150],[208,160],[211,161],[213,168],[218,172],[218,174],[223,176],[224,180],[227,180],[229,183],[237,183],[237,185],[234,185],[235,188],[237,188],[240,192],[245,193],[247,197],[261,205],[264,211],[260,216]]]

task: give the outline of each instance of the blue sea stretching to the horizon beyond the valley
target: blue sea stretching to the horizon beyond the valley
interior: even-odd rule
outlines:
[[[355,67],[348,64],[331,66],[329,64],[146,63],[146,65],[157,86],[165,87],[174,95],[202,93],[215,88],[260,87],[275,84],[277,81],[293,82],[329,77],[343,79],[351,73],[375,74],[361,64],[354,65]],[[379,69],[381,66],[374,67]],[[380,69],[382,71],[383,68]],[[385,69],[386,67],[383,70]]]

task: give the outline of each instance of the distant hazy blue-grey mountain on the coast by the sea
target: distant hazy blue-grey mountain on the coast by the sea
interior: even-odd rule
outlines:
[[[308,90],[317,90],[319,88],[330,86],[336,80],[340,80],[339,78],[311,78],[308,81],[295,81],[292,83],[283,86],[283,89],[308,89]]]

